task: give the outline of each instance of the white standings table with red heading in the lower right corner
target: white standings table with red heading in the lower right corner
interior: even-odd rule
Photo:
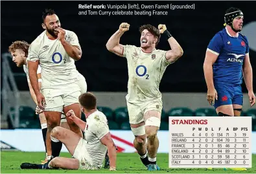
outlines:
[[[250,116],[170,116],[170,168],[251,168]]]

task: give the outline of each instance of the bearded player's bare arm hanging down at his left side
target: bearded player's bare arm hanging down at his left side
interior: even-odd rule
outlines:
[[[33,89],[33,94],[36,94],[36,96],[40,94],[37,76],[38,65],[39,61],[28,61],[30,85]]]

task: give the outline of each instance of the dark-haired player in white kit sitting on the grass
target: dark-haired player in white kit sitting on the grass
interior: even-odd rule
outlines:
[[[84,139],[63,127],[54,127],[51,140],[62,142],[74,158],[55,157],[46,164],[21,164],[21,169],[100,169],[106,151],[110,157],[110,170],[116,168],[117,152],[111,138],[106,116],[97,110],[96,97],[91,92],[79,96],[82,112],[86,115],[86,122],[76,117],[73,110],[69,110],[66,118],[72,120],[81,130]]]

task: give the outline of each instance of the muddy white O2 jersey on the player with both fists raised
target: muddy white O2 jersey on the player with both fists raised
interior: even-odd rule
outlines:
[[[161,100],[159,84],[169,61],[165,50],[143,52],[141,47],[124,45],[123,57],[128,63],[128,94],[127,102],[141,103],[148,100]]]

